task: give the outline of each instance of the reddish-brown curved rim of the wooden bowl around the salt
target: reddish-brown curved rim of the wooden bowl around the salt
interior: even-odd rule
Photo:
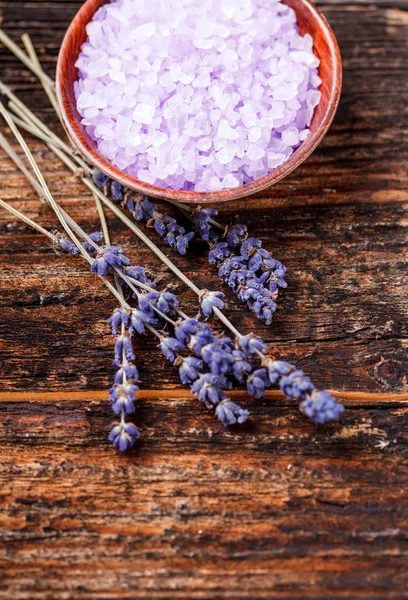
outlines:
[[[90,162],[95,167],[109,175],[111,179],[118,181],[119,183],[133,191],[145,194],[147,196],[164,200],[184,202],[188,204],[209,204],[238,200],[240,198],[246,198],[248,196],[251,196],[256,192],[260,192],[274,185],[283,177],[289,175],[292,171],[294,171],[294,169],[296,169],[303,161],[305,161],[310,156],[310,154],[316,149],[316,147],[326,135],[333,121],[334,115],[339,105],[341,95],[342,64],[340,50],[338,47],[336,37],[327,19],[319,11],[319,9],[309,0],[296,0],[296,2],[302,4],[303,8],[306,11],[308,11],[311,16],[314,17],[314,19],[320,27],[322,36],[327,44],[328,60],[331,60],[332,64],[332,81],[330,89],[328,90],[327,105],[324,113],[321,116],[319,126],[316,128],[315,131],[310,132],[306,140],[304,140],[300,144],[300,146],[294,151],[294,153],[288,158],[288,160],[285,161],[281,166],[271,171],[270,173],[267,173],[266,175],[263,175],[259,179],[255,179],[250,183],[240,185],[236,188],[223,189],[213,192],[195,192],[161,188],[159,186],[145,183],[139,179],[127,175],[126,173],[112,165],[95,149],[90,147],[83,130],[78,125],[77,115],[75,114],[76,107],[74,108],[69,100],[69,94],[66,85],[65,75],[68,68],[68,60],[75,32],[77,31],[78,27],[83,27],[84,15],[88,10],[88,6],[94,2],[95,0],[86,0],[86,2],[84,2],[84,4],[74,16],[67,32],[65,33],[58,54],[56,72],[56,93],[62,114],[62,120],[70,139],[73,141],[73,143],[81,152],[81,154],[83,154],[83,156],[88,160],[88,162]],[[293,4],[293,0],[282,0],[282,2],[283,4]]]

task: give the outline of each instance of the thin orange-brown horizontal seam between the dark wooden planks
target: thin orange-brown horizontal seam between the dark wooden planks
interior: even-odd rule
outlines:
[[[406,394],[376,394],[366,392],[341,392],[339,390],[330,390],[339,400],[342,400],[345,406],[376,408],[379,404],[408,406],[408,393]],[[231,399],[238,400],[248,398],[245,390],[230,390],[228,396]],[[67,402],[74,401],[104,401],[108,397],[107,390],[88,390],[75,392],[0,392],[0,403],[4,402]],[[161,398],[163,400],[195,400],[196,397],[187,390],[178,389],[158,389],[158,390],[139,390],[137,397],[140,400],[151,400]],[[277,390],[268,390],[264,396],[265,400],[284,400],[285,397]]]

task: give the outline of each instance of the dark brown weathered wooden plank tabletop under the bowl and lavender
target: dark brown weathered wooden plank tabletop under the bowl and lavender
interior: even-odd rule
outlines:
[[[1,1],[2,26],[15,40],[28,31],[53,74],[80,4]],[[341,422],[316,427],[279,394],[242,393],[252,418],[225,430],[144,336],[142,439],[118,455],[106,440],[115,302],[79,259],[1,212],[1,599],[408,598],[408,4],[321,8],[344,64],[330,133],[285,181],[222,218],[239,215],[288,267],[272,326],[230,294],[229,316],[337,390]],[[58,129],[5,49],[0,73]],[[85,188],[30,145],[55,197],[94,230]],[[2,198],[55,226],[4,154],[0,183]],[[135,260],[161,269],[112,215],[109,224]],[[202,244],[187,259],[166,251],[200,285],[221,285]]]

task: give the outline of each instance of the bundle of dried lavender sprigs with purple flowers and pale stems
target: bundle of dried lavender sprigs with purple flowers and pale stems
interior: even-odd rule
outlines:
[[[20,50],[20,52],[22,51]],[[37,65],[37,74],[38,68]],[[45,78],[42,80],[43,82],[47,81]],[[248,392],[256,398],[262,397],[267,387],[271,385],[278,386],[289,399],[298,401],[301,411],[317,423],[325,423],[328,420],[339,417],[343,407],[328,392],[318,391],[309,378],[302,371],[297,370],[294,365],[284,361],[274,361],[266,356],[265,345],[259,338],[256,338],[252,334],[242,335],[222,313],[223,294],[221,292],[200,290],[190,281],[145,236],[139,227],[130,221],[109,200],[106,194],[95,185],[95,182],[90,178],[92,173],[91,167],[81,157],[78,157],[68,144],[60,140],[39,121],[1,82],[0,87],[11,101],[9,106],[13,110],[14,116],[11,116],[3,106],[0,106],[0,110],[29,158],[40,184],[40,195],[45,196],[58,216],[65,232],[68,234],[69,239],[66,239],[62,245],[60,241],[60,247],[65,245],[66,249],[71,252],[82,254],[88,262],[90,254],[94,254],[94,258],[91,259],[91,269],[103,278],[105,284],[108,285],[109,289],[113,291],[114,295],[120,301],[120,308],[111,317],[111,324],[114,331],[117,332],[120,327],[121,332],[116,341],[115,366],[118,368],[117,379],[115,379],[114,387],[111,390],[112,407],[115,412],[121,414],[121,422],[115,425],[111,432],[111,439],[115,446],[121,450],[125,450],[135,443],[139,435],[137,428],[134,425],[130,426],[130,424],[127,424],[124,417],[129,412],[133,412],[135,393],[137,391],[137,370],[132,362],[134,354],[131,347],[131,337],[135,332],[143,333],[145,328],[152,331],[159,338],[163,354],[168,360],[174,362],[179,367],[181,381],[191,386],[191,390],[197,395],[200,401],[211,408],[215,407],[216,415],[224,425],[244,422],[248,416],[247,411],[241,409],[226,397],[224,390],[231,387],[231,379],[235,379],[239,383],[246,383]],[[48,91],[52,93],[50,88],[48,88]],[[100,247],[97,245],[99,239],[87,236],[82,232],[77,224],[62,211],[52,198],[39,172],[38,166],[35,164],[24,139],[18,132],[16,124],[45,141],[62,162],[72,172],[77,173],[81,177],[84,184],[93,193],[99,203],[98,206],[107,242],[108,232],[100,203],[110,208],[181,281],[197,294],[203,313],[206,316],[214,314],[218,317],[230,329],[235,339],[216,336],[208,325],[196,319],[189,319],[180,311],[177,298],[167,291],[157,292],[153,288],[152,283],[146,280],[143,269],[141,267],[131,267],[120,248],[110,245]],[[2,139],[4,141],[4,138]],[[4,143],[3,147],[6,149]],[[15,162],[17,164],[17,161]],[[21,165],[18,166],[21,168]],[[24,172],[24,169],[22,170]],[[100,179],[98,180],[97,178],[96,183],[106,185],[107,182],[102,181],[102,175],[99,177]],[[119,195],[123,191],[113,184],[112,187],[113,193],[119,199]],[[148,201],[145,200],[144,202]],[[216,234],[210,233],[210,225],[214,225],[214,223],[217,225],[213,219],[214,216],[216,216],[214,213],[200,210],[195,211],[192,218],[195,220],[201,236],[207,237],[211,244],[216,242],[216,245],[210,252],[211,260],[218,262],[219,259],[216,257],[219,256],[220,259],[222,258],[223,264],[221,267],[224,266],[224,269],[226,269],[225,276],[229,279],[234,272],[234,286],[236,284],[242,285],[240,277],[244,278],[246,284],[248,279],[258,277],[259,271],[262,271],[266,275],[263,279],[258,277],[261,279],[260,282],[251,281],[252,287],[244,285],[244,288],[259,292],[261,287],[265,288],[265,284],[267,284],[271,292],[274,285],[284,287],[284,267],[280,263],[277,263],[277,261],[274,261],[261,248],[260,241],[247,238],[244,227],[234,226],[230,230],[225,231],[226,241],[220,242],[215,237]],[[167,243],[176,247],[179,251],[186,249],[188,242],[192,238],[191,235],[187,234],[185,230],[178,229],[174,226],[176,224],[163,219],[162,216],[154,215],[153,217],[150,215],[149,218],[153,218],[154,222],[151,224],[155,226],[156,230],[165,238]],[[169,226],[173,227],[169,228]],[[75,235],[78,233],[85,240],[83,244],[79,242]],[[70,246],[70,244],[72,245]],[[231,255],[236,246],[240,247],[239,256],[233,257]],[[229,263],[226,262],[228,260]],[[237,266],[231,268],[227,273],[228,268],[225,265],[231,264],[234,260],[234,265]],[[241,272],[241,275],[236,274],[236,271]],[[244,271],[248,271],[249,273],[243,273]],[[114,274],[119,288],[115,288],[108,282],[106,275],[109,273]],[[123,300],[123,286],[125,285],[132,290],[133,296],[137,299],[138,308],[130,307]],[[272,293],[275,291],[276,289]],[[242,296],[241,299],[246,301],[251,300],[251,304],[253,301],[255,305],[259,300],[259,295],[258,293],[253,297],[253,294],[249,293],[248,297]],[[250,308],[253,309],[252,306]],[[255,312],[258,316],[268,321],[271,317],[267,312],[268,310],[270,313],[273,312],[271,306],[262,305],[261,303],[260,306],[257,306]],[[176,318],[175,315],[177,313],[179,318],[177,317],[175,321],[174,318]],[[167,325],[173,328],[173,336],[169,336],[167,332],[160,332],[156,329],[155,326],[157,325],[158,318],[163,319]],[[191,351],[193,355],[183,356],[182,353],[187,351]],[[253,365],[254,359],[261,361],[260,368],[255,368],[255,370]]]

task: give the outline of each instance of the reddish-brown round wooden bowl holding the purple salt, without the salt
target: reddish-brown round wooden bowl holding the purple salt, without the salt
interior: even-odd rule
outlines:
[[[97,9],[109,0],[87,0],[72,21],[58,57],[57,94],[63,120],[72,141],[90,163],[122,185],[156,198],[179,202],[208,204],[236,200],[259,192],[286,177],[313,152],[325,136],[336,112],[341,92],[341,57],[336,38],[320,11],[308,0],[283,0],[296,13],[301,33],[310,33],[314,40],[314,52],[320,59],[319,76],[322,79],[322,98],[315,109],[310,134],[294,151],[292,156],[271,173],[239,186],[217,192],[188,192],[160,188],[144,183],[114,167],[104,158],[96,143],[88,136],[76,109],[74,82],[78,78],[75,62],[86,40],[86,25]]]

